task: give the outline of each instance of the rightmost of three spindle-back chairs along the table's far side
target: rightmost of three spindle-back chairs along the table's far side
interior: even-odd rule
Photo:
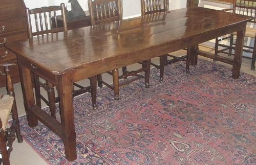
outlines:
[[[155,17],[157,15],[161,15],[162,13],[168,12],[169,9],[169,1],[168,0],[141,0],[141,15],[142,17]],[[145,18],[143,18],[145,19]],[[153,20],[153,18],[149,18],[148,20]],[[172,59],[167,59],[172,57]],[[172,64],[178,61],[185,61],[187,55],[184,56],[173,56],[169,54],[161,55],[160,57],[160,64],[157,65],[153,62],[151,64],[156,68],[160,69],[160,81],[163,81],[163,73],[164,73],[164,66],[168,64]]]

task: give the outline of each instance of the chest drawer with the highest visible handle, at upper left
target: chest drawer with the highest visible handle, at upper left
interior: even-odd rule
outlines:
[[[27,30],[26,18],[16,18],[0,21],[0,35],[8,35],[13,32]]]

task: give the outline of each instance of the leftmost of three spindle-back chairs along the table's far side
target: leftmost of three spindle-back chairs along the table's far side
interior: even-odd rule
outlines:
[[[56,15],[57,12],[61,11],[63,27],[58,27]],[[67,31],[67,19],[66,19],[66,9],[65,5],[62,3],[60,6],[50,6],[50,7],[41,7],[30,10],[26,8],[27,24],[28,24],[28,35],[29,39],[32,39],[33,36],[37,37],[48,37],[53,33]],[[31,15],[34,15],[36,31],[32,30],[32,21]],[[49,23],[48,23],[49,22]],[[51,111],[51,115],[55,118],[55,103],[59,102],[59,98],[55,98],[54,85],[51,82],[46,81],[41,82],[38,76],[34,76],[35,83],[35,98],[36,104],[41,106],[41,100],[44,101]],[[74,83],[74,86],[77,87],[77,90],[73,91],[73,97],[81,95],[84,92],[92,93],[92,103],[93,107],[96,108],[96,90],[97,90],[97,78],[96,76],[90,78],[90,86],[84,87],[77,83]],[[47,91],[48,99],[41,95],[40,87],[44,88]]]

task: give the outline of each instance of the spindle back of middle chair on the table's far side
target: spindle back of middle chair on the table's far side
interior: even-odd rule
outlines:
[[[121,0],[88,0],[92,25],[122,19]]]

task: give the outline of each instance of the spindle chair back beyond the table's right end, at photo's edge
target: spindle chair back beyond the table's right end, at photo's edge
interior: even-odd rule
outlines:
[[[252,16],[248,22],[256,23],[256,0],[233,0],[233,13]]]

